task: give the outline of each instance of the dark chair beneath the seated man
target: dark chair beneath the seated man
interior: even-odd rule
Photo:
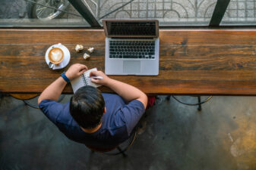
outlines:
[[[128,154],[125,152],[131,147],[132,144],[134,144],[136,137],[137,137],[137,127],[135,127],[134,130],[131,132],[131,135],[128,138],[128,140],[123,142],[122,144],[119,144],[118,146],[115,146],[112,148],[107,148],[107,149],[100,149],[100,148],[96,148],[96,147],[88,146],[88,145],[86,145],[86,147],[88,147],[92,153],[98,152],[98,153],[103,153],[103,154],[111,155],[111,156],[116,156],[116,155],[122,154],[122,156],[127,157]],[[128,142],[128,144],[125,144],[126,142]],[[123,144],[125,146],[121,146]],[[115,149],[118,151],[111,153]]]

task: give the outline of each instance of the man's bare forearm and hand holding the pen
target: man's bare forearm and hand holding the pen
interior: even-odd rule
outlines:
[[[91,79],[91,81],[100,85],[106,85],[126,101],[140,100],[141,103],[144,104],[144,108],[147,107],[147,95],[134,86],[119,82],[115,79],[110,79],[101,71],[92,71],[90,76],[103,76],[103,79]]]

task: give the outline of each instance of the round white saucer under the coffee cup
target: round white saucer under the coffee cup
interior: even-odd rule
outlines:
[[[49,47],[46,51],[46,63],[47,65],[49,65],[49,58],[47,57],[48,56],[48,53],[49,51],[52,49],[52,48],[61,48],[62,51],[64,52],[64,59],[62,60],[62,63],[59,63],[58,66],[53,66],[52,67],[52,70],[58,70],[58,69],[63,69],[65,66],[68,65],[69,61],[70,61],[70,52],[68,51],[68,48],[66,48],[64,45],[62,45],[61,43],[58,43],[57,45],[52,45],[51,47]]]

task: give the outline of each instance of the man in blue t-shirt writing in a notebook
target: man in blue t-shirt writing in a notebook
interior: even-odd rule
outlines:
[[[108,150],[126,141],[147,106],[147,95],[139,89],[110,79],[101,71],[92,71],[92,82],[105,85],[116,94],[102,94],[97,88],[84,86],[67,104],[56,102],[68,82],[81,76],[87,66],[76,63],[52,82],[38,99],[45,113],[69,139],[91,148]]]

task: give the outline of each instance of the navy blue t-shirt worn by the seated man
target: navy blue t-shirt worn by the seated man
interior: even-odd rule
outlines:
[[[126,141],[131,131],[141,119],[145,109],[139,100],[125,100],[117,94],[103,93],[106,113],[103,123],[97,131],[86,133],[82,131],[69,112],[69,102],[60,104],[55,100],[43,100],[40,110],[57,125],[69,139],[93,147],[109,148]]]

